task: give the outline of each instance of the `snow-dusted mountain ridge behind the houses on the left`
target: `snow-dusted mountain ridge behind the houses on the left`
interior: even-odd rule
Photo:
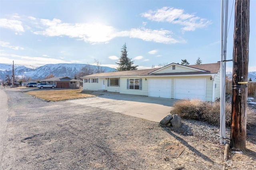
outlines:
[[[40,66],[37,68],[28,68],[24,65],[14,64],[14,74],[15,76],[31,77],[32,80],[44,79],[49,74],[53,74],[56,77],[68,76],[70,78],[74,78],[74,75],[80,71],[80,68],[86,66],[88,64],[68,64],[68,63],[60,63],[60,64],[46,64],[44,66]],[[92,67],[96,67],[94,65],[90,65]],[[114,68],[101,66],[106,69],[106,72],[115,71]],[[5,80],[6,75],[12,76],[12,64],[1,64],[0,63],[0,80]]]

